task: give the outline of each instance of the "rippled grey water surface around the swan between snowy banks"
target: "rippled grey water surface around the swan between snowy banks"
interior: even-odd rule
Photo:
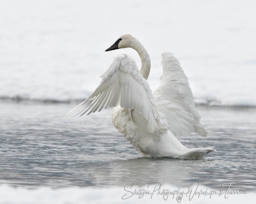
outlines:
[[[125,186],[151,182],[252,190],[256,108],[199,106],[209,136],[182,138],[187,147],[215,146],[204,160],[143,158],[115,129],[111,111],[69,118],[76,104],[3,100],[0,183],[22,187]]]

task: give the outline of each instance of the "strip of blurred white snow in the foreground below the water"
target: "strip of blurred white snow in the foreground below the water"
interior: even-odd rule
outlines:
[[[178,190],[179,187],[173,186],[173,185],[162,185],[163,187],[160,190],[163,190],[163,188],[168,189],[170,191]],[[147,186],[133,186],[131,189],[126,188],[126,190],[134,191],[135,188],[137,191],[139,189],[146,189],[153,192],[154,188],[147,188]],[[186,187],[180,187],[181,190],[184,190],[184,192],[187,192],[188,188]],[[255,199],[255,192],[247,192],[247,194],[225,194],[219,195],[215,194],[212,195],[210,198],[210,195],[194,195],[193,193],[195,191],[200,192],[202,189],[203,191],[208,190],[210,192],[211,190],[215,191],[217,190],[219,192],[219,189],[209,189],[205,186],[199,186],[199,188],[196,190],[195,186],[190,186],[191,191],[191,197],[189,200],[189,194],[186,196],[183,195],[180,203],[242,203],[244,201],[250,201]],[[132,195],[131,192],[127,192],[124,190],[124,187],[87,187],[87,188],[78,188],[78,187],[68,187],[68,188],[62,188],[62,189],[51,189],[46,187],[36,188],[36,189],[26,189],[26,188],[13,188],[10,186],[2,185],[0,186],[0,195],[1,195],[1,201],[0,203],[19,203],[19,204],[34,204],[34,203],[75,203],[75,204],[94,204],[94,203],[113,203],[113,204],[119,204],[119,203],[178,203],[176,201],[177,195],[168,195],[168,197],[165,197],[166,200],[163,199],[163,196],[161,194],[157,195],[157,192],[154,192],[154,194],[151,195],[144,195],[142,198],[138,198],[139,195]],[[230,191],[232,191],[230,189]],[[241,191],[239,191],[241,193]],[[122,196],[127,195],[122,199]],[[4,195],[4,196],[3,196]],[[15,196],[13,196],[15,195]],[[193,197],[192,197],[193,196]]]

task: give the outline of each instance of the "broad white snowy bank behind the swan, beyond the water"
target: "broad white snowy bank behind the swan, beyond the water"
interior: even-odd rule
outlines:
[[[161,52],[179,59],[195,101],[256,105],[254,1],[4,1],[0,8],[0,98],[85,99],[131,34],[150,54],[152,90]]]

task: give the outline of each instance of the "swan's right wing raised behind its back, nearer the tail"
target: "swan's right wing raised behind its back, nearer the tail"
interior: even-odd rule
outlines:
[[[188,136],[191,132],[207,136],[207,131],[200,123],[201,116],[195,109],[188,78],[179,61],[173,53],[164,52],[162,63],[163,76],[154,96],[159,111],[168,113],[166,118],[170,131],[175,136]]]

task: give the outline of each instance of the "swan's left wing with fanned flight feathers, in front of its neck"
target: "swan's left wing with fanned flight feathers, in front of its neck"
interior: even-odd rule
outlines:
[[[69,113],[83,115],[102,108],[115,107],[135,109],[147,119],[147,130],[151,133],[166,132],[163,121],[155,107],[154,96],[147,81],[141,75],[135,61],[125,55],[118,55],[109,69],[101,76],[97,89]]]

